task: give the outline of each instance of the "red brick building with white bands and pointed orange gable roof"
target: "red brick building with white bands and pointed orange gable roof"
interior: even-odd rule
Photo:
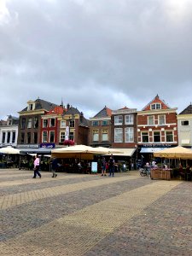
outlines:
[[[177,146],[177,108],[169,106],[157,95],[137,112],[139,158],[151,160],[160,148]]]

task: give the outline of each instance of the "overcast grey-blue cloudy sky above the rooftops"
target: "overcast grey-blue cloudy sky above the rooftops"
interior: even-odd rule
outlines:
[[[38,97],[86,118],[192,102],[192,0],[0,0],[0,119]]]

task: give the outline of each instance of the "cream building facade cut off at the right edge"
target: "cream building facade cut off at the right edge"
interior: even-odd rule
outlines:
[[[178,145],[192,147],[192,104],[177,115]]]

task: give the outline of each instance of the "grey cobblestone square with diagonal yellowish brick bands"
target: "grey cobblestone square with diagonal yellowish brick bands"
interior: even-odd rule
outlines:
[[[0,169],[0,255],[192,255],[192,183]]]

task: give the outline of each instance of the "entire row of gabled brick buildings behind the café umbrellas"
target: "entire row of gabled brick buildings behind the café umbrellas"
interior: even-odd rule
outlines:
[[[12,145],[24,152],[48,152],[66,140],[93,147],[124,148],[126,156],[152,157],[160,148],[191,147],[192,107],[177,114],[157,95],[141,110],[104,107],[90,119],[78,108],[41,99],[27,102],[19,118],[0,122],[0,147]]]

